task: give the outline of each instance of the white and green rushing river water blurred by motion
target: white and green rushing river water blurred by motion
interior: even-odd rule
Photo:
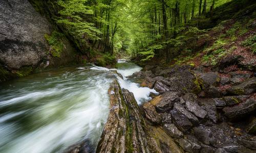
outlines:
[[[109,114],[114,79],[133,92],[138,104],[155,90],[125,77],[140,71],[119,60],[124,79],[98,66],[64,67],[0,84],[0,152],[62,152],[79,140],[93,149]]]

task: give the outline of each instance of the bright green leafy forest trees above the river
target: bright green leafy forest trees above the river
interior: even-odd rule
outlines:
[[[128,52],[148,60],[170,46],[182,44],[173,39],[195,18],[230,0],[61,0],[57,23],[68,29],[79,44],[109,53]],[[199,31],[193,29],[192,31]]]

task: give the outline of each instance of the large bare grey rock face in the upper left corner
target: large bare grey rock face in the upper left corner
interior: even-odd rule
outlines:
[[[27,0],[3,0],[0,5],[0,62],[11,69],[36,66],[46,58],[44,38],[50,23]]]

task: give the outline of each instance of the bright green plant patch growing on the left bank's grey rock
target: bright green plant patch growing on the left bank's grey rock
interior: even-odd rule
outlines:
[[[45,34],[45,39],[48,41],[50,48],[50,53],[53,57],[60,57],[60,54],[63,50],[63,43],[61,42],[61,38],[63,34],[58,33],[57,31],[53,31],[52,35]]]

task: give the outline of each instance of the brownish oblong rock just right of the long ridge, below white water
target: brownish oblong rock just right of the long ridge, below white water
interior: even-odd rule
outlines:
[[[145,111],[146,118],[154,124],[161,122],[161,117],[157,113],[155,107],[151,103],[144,103],[143,108]]]

